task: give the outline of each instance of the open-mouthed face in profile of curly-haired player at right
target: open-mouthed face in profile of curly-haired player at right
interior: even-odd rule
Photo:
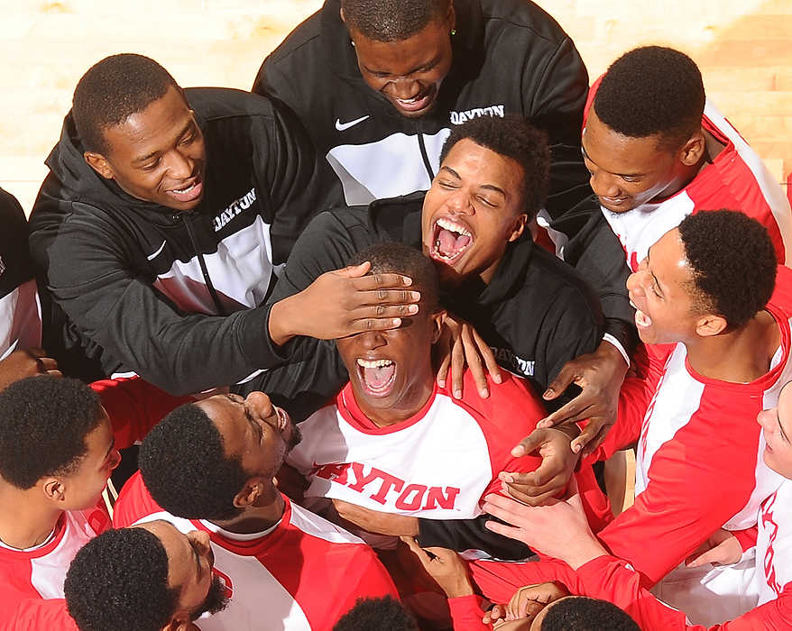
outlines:
[[[693,271],[675,228],[649,248],[638,271],[627,279],[641,341],[677,343],[695,336],[702,314],[696,307],[693,287]]]

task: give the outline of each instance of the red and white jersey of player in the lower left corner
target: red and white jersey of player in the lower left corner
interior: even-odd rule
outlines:
[[[49,541],[28,550],[0,544],[0,629],[77,629],[63,581],[74,555],[110,527],[104,507],[63,513]]]

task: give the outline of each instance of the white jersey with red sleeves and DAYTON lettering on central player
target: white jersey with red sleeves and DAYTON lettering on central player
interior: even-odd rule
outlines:
[[[482,515],[479,502],[501,489],[500,471],[534,471],[539,458],[511,448],[545,416],[526,385],[507,375],[479,398],[469,373],[464,398],[437,383],[420,411],[400,423],[374,425],[347,384],[335,405],[300,424],[303,439],[287,462],[305,475],[308,506],[338,498],[387,513],[429,519]],[[448,380],[450,384],[450,379]]]

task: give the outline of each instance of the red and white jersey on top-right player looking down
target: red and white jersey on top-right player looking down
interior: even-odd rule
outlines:
[[[598,86],[599,81],[589,92],[586,115]],[[756,151],[709,101],[705,104],[701,123],[724,147],[693,181],[671,197],[638,206],[626,213],[602,209],[608,224],[622,242],[628,265],[633,271],[637,270],[649,247],[663,234],[676,228],[687,215],[721,208],[739,210],[764,225],[776,248],[778,263],[786,262],[786,250],[792,246],[792,212],[777,179],[773,178]]]

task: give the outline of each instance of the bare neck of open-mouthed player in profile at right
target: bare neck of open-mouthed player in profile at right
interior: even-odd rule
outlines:
[[[708,379],[749,383],[770,370],[781,333],[775,318],[760,311],[736,331],[686,343],[691,368]]]

